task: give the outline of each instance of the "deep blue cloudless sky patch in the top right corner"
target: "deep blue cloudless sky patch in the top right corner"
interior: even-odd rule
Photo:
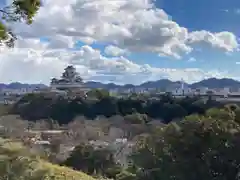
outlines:
[[[189,30],[239,33],[238,0],[157,0],[156,6],[162,7],[173,20]]]

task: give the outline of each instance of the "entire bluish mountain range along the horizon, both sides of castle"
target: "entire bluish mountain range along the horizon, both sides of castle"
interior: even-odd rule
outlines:
[[[148,81],[145,83],[142,83],[140,85],[133,85],[133,84],[125,84],[125,85],[117,85],[114,83],[108,83],[103,84],[101,82],[95,82],[95,81],[88,81],[84,83],[85,87],[88,88],[104,88],[104,89],[114,89],[114,88],[159,88],[159,89],[165,89],[170,87],[179,87],[181,85],[180,81],[170,81],[168,79],[161,79],[157,81]],[[234,79],[216,79],[216,78],[210,78],[205,79],[196,83],[187,84],[184,83],[185,86],[188,86],[190,88],[200,88],[200,87],[208,87],[210,89],[214,88],[224,88],[224,87],[230,87],[230,88],[240,88],[240,81],[234,80]],[[10,83],[10,84],[1,84],[0,83],[0,89],[2,88],[9,88],[9,89],[20,89],[20,88],[44,88],[47,87],[44,84],[22,84],[19,82],[16,83]]]

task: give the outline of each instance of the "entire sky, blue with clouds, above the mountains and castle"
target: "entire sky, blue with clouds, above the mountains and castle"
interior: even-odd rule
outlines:
[[[48,84],[67,65],[103,83],[240,80],[239,19],[239,0],[43,0],[33,24],[9,25],[0,82]]]

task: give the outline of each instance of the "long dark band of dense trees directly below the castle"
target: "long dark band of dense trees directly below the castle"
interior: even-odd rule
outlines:
[[[30,94],[23,97],[12,108],[12,113],[20,114],[23,119],[54,119],[60,124],[67,124],[76,116],[95,119],[97,116],[112,117],[140,114],[150,119],[159,119],[163,123],[179,120],[190,114],[204,114],[211,107],[222,104],[213,100],[204,102],[194,97],[175,99],[169,95],[159,98],[128,97],[115,98],[98,95],[99,99],[66,99],[58,96]],[[138,116],[139,117],[139,116]],[[136,118],[139,119],[139,118]]]

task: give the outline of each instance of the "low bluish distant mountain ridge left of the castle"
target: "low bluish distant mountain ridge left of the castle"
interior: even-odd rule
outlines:
[[[14,82],[10,84],[0,84],[0,89],[7,88],[7,89],[21,89],[21,88],[45,88],[47,87],[44,84],[22,84],[19,82]]]

